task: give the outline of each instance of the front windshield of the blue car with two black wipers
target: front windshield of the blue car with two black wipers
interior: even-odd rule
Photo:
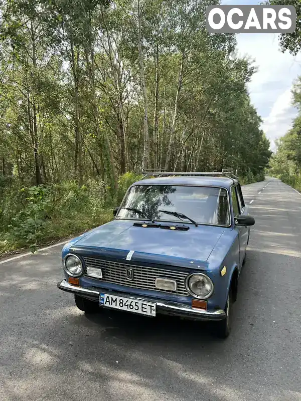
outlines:
[[[190,223],[178,212],[199,224],[229,226],[227,191],[210,186],[134,185],[127,193],[116,219],[148,219]]]

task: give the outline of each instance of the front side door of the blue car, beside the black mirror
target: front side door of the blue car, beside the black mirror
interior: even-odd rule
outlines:
[[[246,215],[247,210],[244,204],[241,187],[239,184],[232,186],[231,188],[232,205],[234,221],[238,215]],[[238,232],[239,238],[239,264],[242,265],[243,258],[248,245],[249,239],[249,227],[246,226],[235,226],[235,230]]]

